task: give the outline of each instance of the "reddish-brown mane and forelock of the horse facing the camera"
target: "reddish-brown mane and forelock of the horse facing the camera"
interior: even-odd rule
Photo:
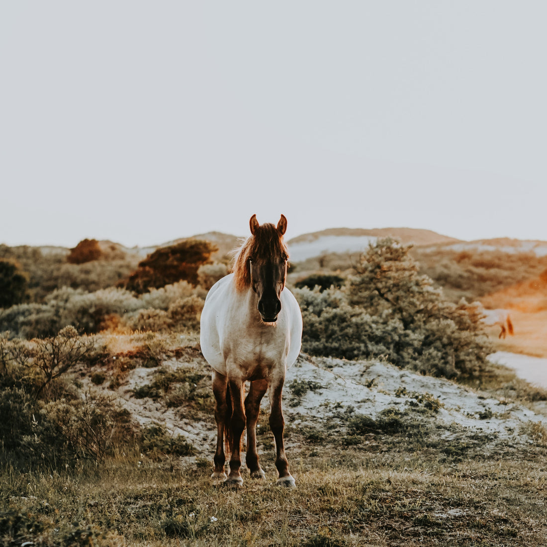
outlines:
[[[238,291],[251,286],[251,269],[249,259],[252,260],[288,260],[289,251],[283,236],[274,224],[265,223],[254,231],[243,245],[234,251],[235,263],[232,269]]]

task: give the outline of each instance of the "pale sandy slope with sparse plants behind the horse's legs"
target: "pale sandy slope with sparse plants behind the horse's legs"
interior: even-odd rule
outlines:
[[[192,359],[190,363],[171,359],[163,366],[209,370],[203,359]],[[151,381],[154,371],[143,368],[130,371],[118,390],[121,404],[139,424],[165,424],[172,435],[183,435],[203,453],[213,451],[216,432],[212,415],[195,420],[185,417],[184,409],[167,408],[161,401],[132,396],[133,389]],[[290,388],[293,381],[300,385],[310,382],[312,388],[301,397],[295,397]],[[439,410],[423,411],[423,403],[419,402],[421,395],[438,400]],[[434,424],[446,439],[451,438],[456,428],[460,434],[489,434],[499,440],[521,443],[527,442],[520,433],[523,426],[531,421],[545,421],[545,416],[509,401],[487,398],[455,382],[414,374],[379,361],[311,358],[302,354],[288,371],[283,396],[286,421],[297,428],[321,428],[325,420],[333,420],[348,408],[373,419],[382,411],[392,409]],[[266,409],[267,398],[263,404]],[[418,410],[421,412],[416,414]],[[337,427],[343,432],[344,422],[340,421]]]

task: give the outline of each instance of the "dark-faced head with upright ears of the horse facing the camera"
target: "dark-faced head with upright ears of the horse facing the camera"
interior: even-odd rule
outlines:
[[[247,252],[248,278],[258,296],[258,311],[264,323],[275,323],[281,311],[281,291],[287,278],[287,247],[283,234],[287,219],[281,215],[277,226],[260,225],[257,216],[251,217],[250,245]]]

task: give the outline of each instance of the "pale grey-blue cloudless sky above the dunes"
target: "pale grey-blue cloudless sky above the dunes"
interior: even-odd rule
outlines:
[[[288,219],[547,240],[547,3],[0,0],[0,242]]]

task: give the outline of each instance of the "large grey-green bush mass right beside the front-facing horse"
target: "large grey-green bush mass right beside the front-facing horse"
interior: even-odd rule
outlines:
[[[383,356],[424,374],[480,374],[491,351],[477,307],[443,298],[410,247],[370,245],[344,289],[295,289],[303,349],[346,359]]]

